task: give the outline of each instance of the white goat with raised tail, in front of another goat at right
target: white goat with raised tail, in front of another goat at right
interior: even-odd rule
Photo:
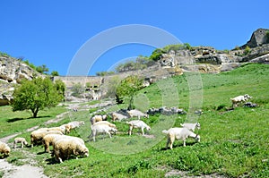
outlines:
[[[187,128],[170,128],[168,131],[163,130],[163,133],[167,134],[166,148],[173,149],[173,143],[175,139],[183,140],[183,146],[186,147],[186,139],[188,137],[194,138],[196,141],[200,142],[200,136],[195,134],[193,131],[189,131]]]

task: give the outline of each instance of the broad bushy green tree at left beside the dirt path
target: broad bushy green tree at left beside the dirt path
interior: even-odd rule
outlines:
[[[22,85],[13,92],[13,111],[30,110],[36,118],[39,110],[56,106],[63,99],[55,85],[48,78],[36,78],[32,81],[22,81]]]

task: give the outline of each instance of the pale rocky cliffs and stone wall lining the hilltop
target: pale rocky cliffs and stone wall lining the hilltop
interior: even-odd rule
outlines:
[[[105,86],[113,77],[125,78],[139,73],[143,76],[145,86],[154,81],[184,72],[225,72],[233,70],[244,63],[269,64],[269,30],[258,29],[242,47],[232,50],[217,50],[213,47],[187,47],[171,49],[162,53],[160,59],[152,66],[139,71],[126,71],[104,77],[55,77],[65,82],[67,89],[74,83],[91,83],[95,99],[106,92]],[[8,55],[0,55],[0,106],[8,104],[12,99],[13,86],[22,79],[31,80],[40,73],[27,64]],[[102,90],[104,89],[104,90]]]

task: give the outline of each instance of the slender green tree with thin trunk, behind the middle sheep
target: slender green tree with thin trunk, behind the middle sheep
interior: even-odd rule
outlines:
[[[133,109],[133,102],[135,93],[143,88],[143,80],[137,75],[131,75],[126,77],[117,86],[116,95],[117,97],[129,97],[128,109]]]

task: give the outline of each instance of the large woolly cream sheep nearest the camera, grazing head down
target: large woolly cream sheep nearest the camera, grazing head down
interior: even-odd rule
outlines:
[[[69,159],[71,155],[89,157],[89,149],[79,140],[69,138],[57,140],[53,148],[55,159],[60,163],[63,163],[63,159]]]

